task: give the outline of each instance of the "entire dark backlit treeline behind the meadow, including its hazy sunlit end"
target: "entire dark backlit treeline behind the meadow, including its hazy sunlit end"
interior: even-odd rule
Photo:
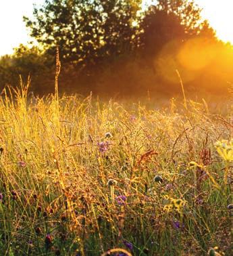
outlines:
[[[233,47],[219,41],[195,1],[46,0],[24,17],[38,47],[20,45],[0,59],[0,87],[31,77],[53,91],[56,49],[63,92],[146,95],[180,90],[219,93],[233,83]]]

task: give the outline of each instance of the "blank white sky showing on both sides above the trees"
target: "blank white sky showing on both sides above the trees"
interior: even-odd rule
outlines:
[[[143,1],[151,2],[151,0]],[[218,37],[233,43],[233,0],[196,1],[203,7],[203,16],[215,28]],[[32,40],[28,36],[22,17],[32,17],[33,3],[40,5],[43,2],[44,0],[0,0],[0,56],[12,54],[14,47]]]

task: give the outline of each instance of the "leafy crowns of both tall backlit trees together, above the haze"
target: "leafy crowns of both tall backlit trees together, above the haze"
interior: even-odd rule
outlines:
[[[201,33],[194,0],[157,0],[145,13],[142,0],[46,0],[26,26],[49,52],[75,66],[92,66],[143,49],[154,56],[167,41]]]

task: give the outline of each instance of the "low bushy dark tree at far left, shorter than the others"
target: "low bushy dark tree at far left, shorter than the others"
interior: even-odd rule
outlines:
[[[17,87],[22,81],[26,83],[28,76],[32,78],[31,88],[36,93],[51,91],[53,85],[53,58],[38,47],[19,45],[14,54],[0,58],[0,89],[5,85]],[[52,87],[53,89],[53,87]]]

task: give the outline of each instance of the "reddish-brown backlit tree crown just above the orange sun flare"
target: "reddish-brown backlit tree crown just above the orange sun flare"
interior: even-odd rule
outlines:
[[[193,0],[157,0],[145,13],[141,26],[140,47],[148,58],[154,58],[172,40],[181,44],[204,30],[205,35],[215,37],[207,21],[201,21],[201,9]]]

